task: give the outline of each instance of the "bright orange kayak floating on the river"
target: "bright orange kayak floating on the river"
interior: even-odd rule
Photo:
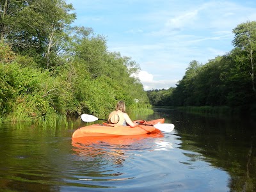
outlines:
[[[156,124],[163,124],[164,118],[159,118],[151,121],[136,120],[140,122],[136,127],[122,126],[115,124],[93,124],[81,127],[73,132],[72,138],[81,137],[104,137],[104,136],[132,136],[154,132],[158,129],[154,127]]]

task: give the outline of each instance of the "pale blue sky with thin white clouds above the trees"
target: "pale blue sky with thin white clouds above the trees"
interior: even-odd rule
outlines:
[[[76,26],[106,37],[108,51],[140,65],[144,90],[175,87],[193,60],[232,51],[239,24],[256,20],[255,0],[66,0]]]

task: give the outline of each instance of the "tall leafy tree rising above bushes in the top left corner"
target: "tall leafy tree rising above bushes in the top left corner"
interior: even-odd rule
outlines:
[[[49,68],[65,48],[67,30],[76,18],[72,10],[63,0],[1,1],[0,38]]]

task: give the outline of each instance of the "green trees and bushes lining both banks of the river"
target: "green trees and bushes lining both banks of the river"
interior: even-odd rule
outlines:
[[[108,51],[105,36],[74,20],[64,0],[0,2],[0,122],[104,118],[118,100],[130,110],[208,106],[255,113],[255,21],[233,29],[230,52],[204,65],[191,61],[175,88],[145,92],[136,76],[140,65]]]

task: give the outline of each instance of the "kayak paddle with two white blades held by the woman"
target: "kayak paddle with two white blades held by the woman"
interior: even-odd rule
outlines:
[[[96,116],[88,115],[88,114],[83,114],[81,116],[81,119],[84,122],[95,122],[97,120],[106,120],[106,119],[97,118]],[[148,124],[141,124],[141,125],[148,125]],[[160,123],[155,125],[148,125],[148,126],[154,126],[156,129],[159,129],[160,131],[165,131],[165,132],[172,132],[175,127],[173,124],[160,124]]]

